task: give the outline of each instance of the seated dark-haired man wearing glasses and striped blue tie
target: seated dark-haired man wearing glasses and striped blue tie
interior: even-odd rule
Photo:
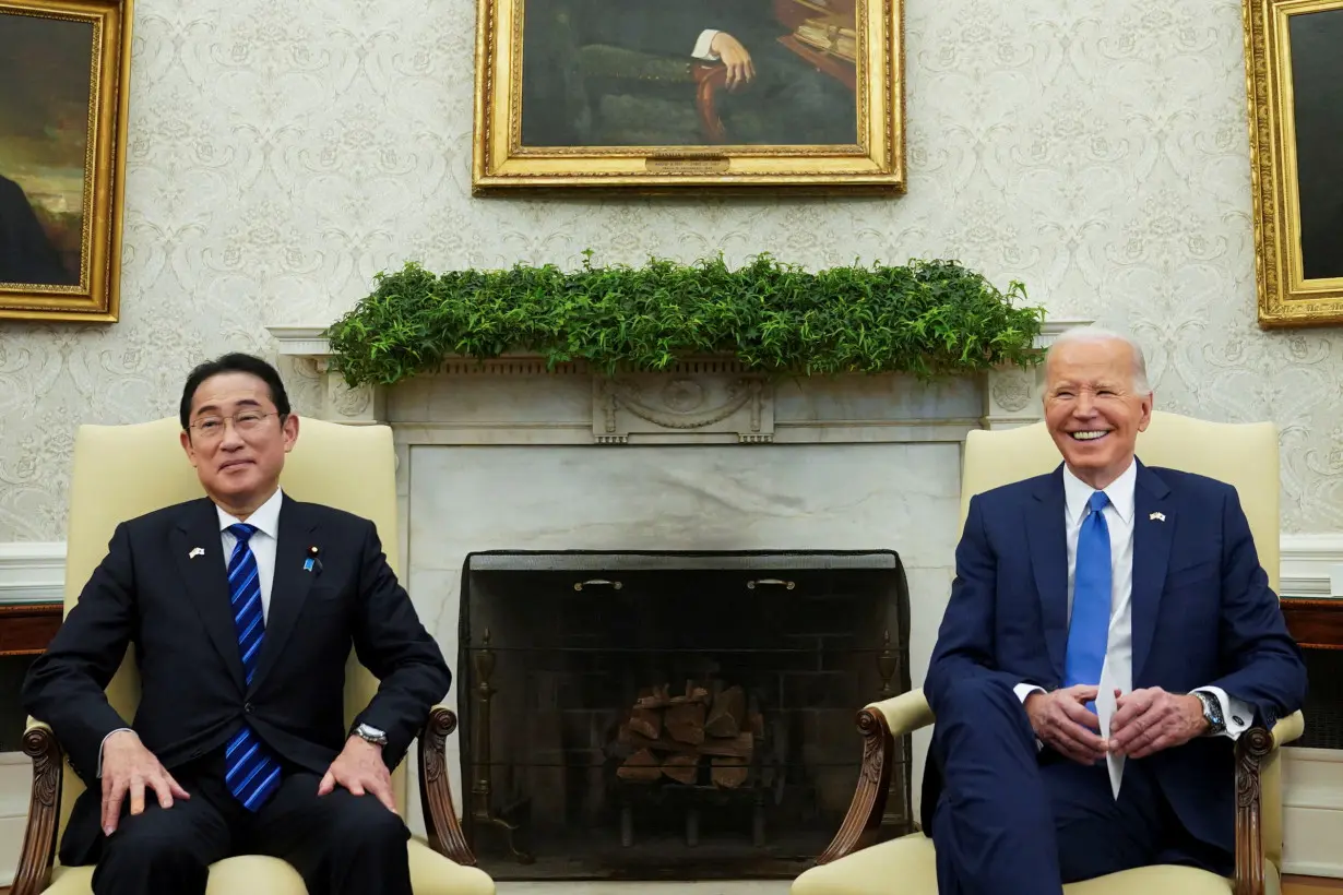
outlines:
[[[391,770],[450,684],[373,525],[279,488],[298,439],[279,374],[192,370],[181,445],[205,498],[120,525],[24,683],[87,789],[60,863],[98,895],[200,895],[211,863],[287,860],[313,895],[411,895]],[[140,708],[103,688],[134,643]],[[351,647],[380,680],[345,726]]]

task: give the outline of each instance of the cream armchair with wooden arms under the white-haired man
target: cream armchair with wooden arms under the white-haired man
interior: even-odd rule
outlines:
[[[1236,486],[1249,518],[1269,585],[1279,576],[1277,431],[1272,423],[1205,423],[1154,413],[1138,439],[1147,466],[1209,475]],[[976,431],[966,443],[960,518],[970,498],[1018,479],[1049,472],[1058,450],[1044,423],[998,432]],[[792,895],[935,895],[937,876],[932,840],[921,832],[869,844],[882,814],[890,782],[894,738],[933,723],[923,691],[915,690],[858,713],[865,738],[858,790],[849,814],[818,865],[792,883]],[[1273,730],[1254,727],[1237,743],[1236,876],[1222,879],[1189,867],[1144,867],[1065,886],[1068,895],[1277,895],[1283,870],[1283,796],[1279,747],[1301,735],[1295,713]]]

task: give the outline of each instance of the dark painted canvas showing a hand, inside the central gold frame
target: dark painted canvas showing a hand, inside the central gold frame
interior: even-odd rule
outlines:
[[[522,145],[857,144],[853,5],[788,5],[528,0]]]

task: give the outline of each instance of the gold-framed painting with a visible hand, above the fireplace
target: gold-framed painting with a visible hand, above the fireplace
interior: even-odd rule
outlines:
[[[477,0],[475,195],[905,189],[900,0]]]

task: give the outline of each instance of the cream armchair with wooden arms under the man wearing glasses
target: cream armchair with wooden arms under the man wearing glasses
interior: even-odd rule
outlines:
[[[66,557],[66,611],[106,553],[117,523],[150,510],[203,495],[196,471],[187,462],[175,419],[138,425],[83,425],[75,436],[70,486],[70,521]],[[387,427],[349,427],[304,419],[298,443],[285,463],[281,480],[287,494],[340,507],[377,525],[387,545],[388,561],[396,558],[396,483],[392,433]],[[107,699],[132,718],[138,699],[133,660],[107,686]],[[353,718],[377,690],[377,680],[351,652],[345,676],[345,711]],[[493,895],[494,883],[473,867],[471,856],[453,808],[443,745],[457,727],[447,707],[432,710],[419,737],[420,802],[428,843],[410,843],[411,880],[416,895]],[[62,757],[51,729],[30,722],[23,738],[32,757],[32,797],[23,852],[11,895],[78,895],[90,892],[91,867],[52,867],[55,848],[83,781]],[[406,816],[407,764],[392,776],[398,808]],[[214,864],[210,895],[258,892],[304,895],[298,874],[282,860],[239,856]]]

